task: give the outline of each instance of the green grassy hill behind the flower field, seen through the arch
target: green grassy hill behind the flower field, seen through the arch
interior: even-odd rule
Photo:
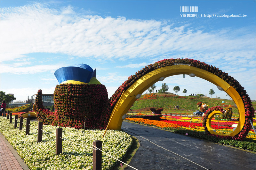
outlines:
[[[163,112],[187,112],[193,113],[197,110],[196,103],[199,101],[210,105],[209,107],[222,106],[222,101],[225,101],[224,107],[231,105],[233,112],[237,113],[237,108],[234,107],[233,100],[227,99],[216,99],[209,97],[197,97],[197,96],[178,96],[174,94],[162,94],[162,93],[150,93],[141,95],[140,99],[136,100],[131,109],[133,111],[143,111],[147,112],[150,110],[150,107],[154,108],[164,108]],[[255,102],[252,102],[255,109]],[[173,109],[175,105],[178,105],[180,110]],[[226,106],[227,105],[227,106]],[[208,108],[209,108],[208,107]],[[182,111],[182,109],[184,109]],[[150,112],[150,111],[149,111]]]

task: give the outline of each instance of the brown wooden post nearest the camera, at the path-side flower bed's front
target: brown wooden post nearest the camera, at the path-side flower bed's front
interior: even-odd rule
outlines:
[[[102,142],[100,140],[93,141],[93,151],[92,151],[92,169],[101,169],[101,149]]]

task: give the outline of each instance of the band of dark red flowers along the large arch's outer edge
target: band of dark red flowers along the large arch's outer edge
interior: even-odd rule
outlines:
[[[188,58],[173,59],[173,58],[171,58],[171,59],[164,59],[164,60],[158,61],[154,64],[149,64],[147,67],[136,72],[135,75],[128,77],[128,79],[126,81],[124,81],[124,83],[121,86],[119,86],[119,88],[116,90],[116,92],[110,98],[111,109],[113,109],[114,106],[116,105],[116,102],[121,97],[122,92],[125,91],[126,89],[128,89],[139,78],[141,78],[142,76],[144,76],[145,74],[147,74],[150,71],[156,70],[161,67],[172,66],[175,63],[189,64],[193,67],[211,72],[212,74],[223,79],[229,85],[231,85],[232,87],[234,87],[236,89],[236,91],[240,94],[240,96],[244,102],[245,124],[244,124],[244,128],[241,130],[241,132],[239,134],[237,134],[236,136],[234,136],[233,138],[237,139],[237,140],[243,140],[247,136],[249,130],[251,129],[250,119],[253,121],[253,116],[254,116],[254,108],[252,107],[251,99],[248,96],[248,94],[246,94],[244,87],[242,87],[236,79],[229,76],[228,73],[225,73],[225,72],[219,70],[219,68],[213,67],[212,65],[209,65],[204,62],[197,61],[197,60],[193,60],[193,59],[188,59]],[[206,122],[206,119],[205,119],[205,122]]]

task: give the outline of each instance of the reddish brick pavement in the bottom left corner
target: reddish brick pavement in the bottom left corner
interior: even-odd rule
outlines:
[[[1,133],[0,169],[29,169]]]

